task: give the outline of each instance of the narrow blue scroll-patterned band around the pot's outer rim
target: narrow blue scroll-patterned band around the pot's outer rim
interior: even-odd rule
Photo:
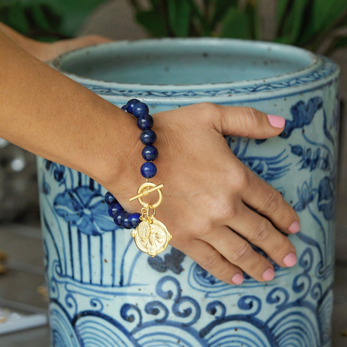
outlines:
[[[323,64],[319,66],[317,69],[310,71],[307,74],[297,77],[290,77],[287,79],[283,79],[282,81],[274,81],[274,82],[260,82],[257,85],[248,85],[243,87],[235,87],[235,88],[226,88],[226,89],[214,89],[213,86],[209,90],[185,90],[185,91],[158,91],[158,90],[122,90],[119,88],[98,86],[89,83],[85,83],[81,81],[81,83],[93,91],[94,93],[100,95],[116,95],[116,96],[139,96],[139,97],[153,97],[159,96],[161,98],[178,98],[178,97],[196,97],[196,96],[232,96],[237,94],[248,94],[248,93],[261,93],[268,91],[275,91],[279,89],[285,89],[290,87],[297,87],[306,83],[311,83],[315,81],[319,81],[322,78],[330,76],[337,70],[337,65],[335,62],[328,60],[325,57],[321,57],[323,60]]]

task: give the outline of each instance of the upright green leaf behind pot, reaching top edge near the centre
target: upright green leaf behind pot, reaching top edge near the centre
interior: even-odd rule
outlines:
[[[188,36],[191,11],[188,0],[168,0],[169,25],[175,36]]]

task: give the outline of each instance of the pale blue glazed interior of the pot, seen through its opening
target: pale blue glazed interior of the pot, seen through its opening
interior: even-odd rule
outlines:
[[[222,39],[221,39],[222,40]],[[202,84],[298,71],[313,55],[293,46],[216,39],[120,41],[61,57],[60,70],[90,79],[141,84]]]

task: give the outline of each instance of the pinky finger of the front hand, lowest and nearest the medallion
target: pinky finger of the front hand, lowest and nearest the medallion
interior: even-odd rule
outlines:
[[[237,285],[243,282],[242,270],[231,264],[214,247],[203,240],[190,240],[187,245],[180,247],[180,251],[223,282]]]

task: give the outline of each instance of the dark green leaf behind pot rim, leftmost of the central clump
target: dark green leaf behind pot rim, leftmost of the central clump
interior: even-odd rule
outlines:
[[[150,35],[154,37],[168,36],[165,19],[159,11],[138,11],[136,20],[145,27]]]

